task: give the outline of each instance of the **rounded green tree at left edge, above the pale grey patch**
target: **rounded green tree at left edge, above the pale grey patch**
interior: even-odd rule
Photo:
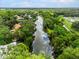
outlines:
[[[9,27],[0,25],[0,44],[7,44],[12,42],[12,36]]]

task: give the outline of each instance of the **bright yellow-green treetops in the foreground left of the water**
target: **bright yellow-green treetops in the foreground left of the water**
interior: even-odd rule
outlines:
[[[28,46],[23,43],[19,43],[17,46],[10,47],[9,52],[5,55],[4,59],[45,59],[44,55],[31,54]]]

